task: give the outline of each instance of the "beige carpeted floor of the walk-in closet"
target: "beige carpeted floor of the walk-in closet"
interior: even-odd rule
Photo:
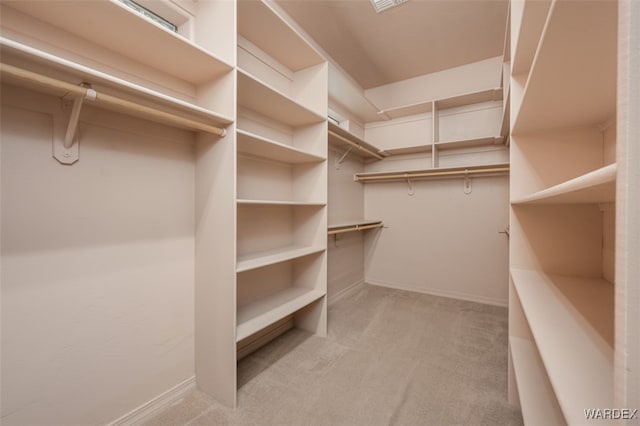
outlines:
[[[146,426],[521,425],[507,403],[507,309],[370,285],[238,365],[233,411],[194,391]]]

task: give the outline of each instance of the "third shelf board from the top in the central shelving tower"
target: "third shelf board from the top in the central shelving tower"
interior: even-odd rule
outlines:
[[[319,163],[326,158],[242,129],[236,131],[238,152],[289,164]]]

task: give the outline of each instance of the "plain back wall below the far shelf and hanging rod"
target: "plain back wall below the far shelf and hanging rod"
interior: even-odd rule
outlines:
[[[365,184],[365,213],[385,228],[367,240],[367,283],[506,305],[509,181],[462,179]]]

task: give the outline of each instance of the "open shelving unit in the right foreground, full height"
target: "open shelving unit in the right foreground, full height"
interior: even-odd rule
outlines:
[[[510,13],[509,398],[525,423],[582,424],[615,406],[618,3]]]

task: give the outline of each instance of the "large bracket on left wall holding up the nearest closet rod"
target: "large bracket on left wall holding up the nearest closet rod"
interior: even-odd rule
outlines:
[[[73,164],[80,158],[78,143],[78,120],[85,99],[95,101],[98,94],[88,85],[85,95],[73,95],[72,101],[63,98],[62,111],[54,117],[53,158],[61,164]],[[69,106],[71,105],[71,106]]]

